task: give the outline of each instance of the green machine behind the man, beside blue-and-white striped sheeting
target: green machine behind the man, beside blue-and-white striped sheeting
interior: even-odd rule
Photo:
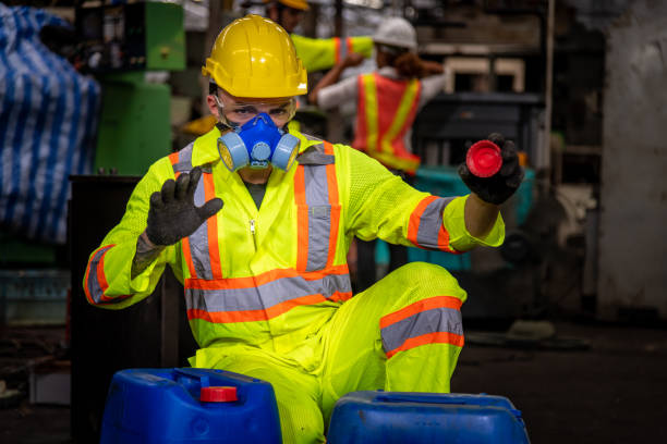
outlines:
[[[76,24],[83,62],[102,87],[95,171],[143,175],[171,148],[171,89],[148,77],[185,69],[183,9],[84,3]]]

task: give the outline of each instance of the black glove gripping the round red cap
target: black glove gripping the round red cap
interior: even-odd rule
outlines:
[[[488,203],[500,205],[506,201],[523,181],[523,169],[519,165],[519,157],[514,143],[505,141],[501,134],[489,134],[488,140],[500,148],[502,166],[490,177],[477,177],[470,172],[465,162],[459,165],[459,175],[471,192]]]

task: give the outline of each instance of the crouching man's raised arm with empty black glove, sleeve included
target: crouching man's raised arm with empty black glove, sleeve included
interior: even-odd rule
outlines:
[[[88,260],[83,286],[90,304],[119,309],[142,300],[153,293],[167,263],[174,266],[182,281],[178,249],[171,244],[191,234],[197,220],[217,212],[221,201],[185,208],[183,201],[193,193],[191,184],[196,185],[198,178],[193,178],[192,173],[181,176],[172,178],[173,169],[165,158],[140,181],[123,219]]]

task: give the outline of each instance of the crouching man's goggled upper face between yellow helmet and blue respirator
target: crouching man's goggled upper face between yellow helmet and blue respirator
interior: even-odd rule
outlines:
[[[229,95],[218,88],[218,95],[208,96],[211,113],[226,124],[242,126],[259,113],[268,114],[276,126],[284,126],[293,116],[296,102],[292,97],[256,99]],[[211,107],[213,106],[213,107]],[[222,112],[222,115],[220,115]]]

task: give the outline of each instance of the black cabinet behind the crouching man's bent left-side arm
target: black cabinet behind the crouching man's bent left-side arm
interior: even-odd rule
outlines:
[[[88,256],[120,222],[137,182],[130,176],[71,177],[71,430],[76,443],[99,442],[107,390],[116,371],[186,366],[196,349],[183,288],[169,267],[154,294],[134,306],[107,310],[86,300],[83,279]]]

